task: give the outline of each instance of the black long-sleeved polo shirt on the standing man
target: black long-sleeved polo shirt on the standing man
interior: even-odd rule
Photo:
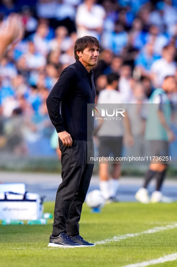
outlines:
[[[93,140],[93,117],[87,131],[87,103],[95,103],[95,96],[92,70],[79,60],[66,67],[46,101],[56,131],[66,130],[73,140]]]

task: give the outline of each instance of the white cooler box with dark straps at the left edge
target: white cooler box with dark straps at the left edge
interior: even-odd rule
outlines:
[[[0,184],[1,220],[37,220],[42,215],[42,198],[26,192],[24,183]]]

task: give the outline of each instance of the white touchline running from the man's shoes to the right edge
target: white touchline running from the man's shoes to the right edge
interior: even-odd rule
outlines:
[[[177,223],[176,222],[174,224],[172,224],[172,225],[169,224],[167,226],[154,227],[152,229],[148,229],[147,231],[143,231],[143,232],[140,232],[140,233],[126,234],[126,235],[116,235],[111,239],[105,239],[105,240],[102,240],[102,241],[96,241],[94,244],[95,245],[101,245],[101,244],[105,244],[105,243],[110,243],[112,241],[120,241],[120,240],[126,239],[128,237],[135,237],[135,236],[143,235],[143,234],[154,234],[156,232],[161,232],[161,231],[164,231],[164,230],[174,229],[174,228],[177,228]],[[144,266],[146,266],[146,265],[144,265]]]

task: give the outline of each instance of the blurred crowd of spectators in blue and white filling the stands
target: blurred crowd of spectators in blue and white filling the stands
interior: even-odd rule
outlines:
[[[101,44],[93,68],[96,94],[107,75],[120,75],[123,103],[147,103],[167,75],[177,81],[177,0],[1,0],[0,23],[22,16],[25,34],[0,62],[0,149],[30,154],[49,143],[54,127],[46,98],[66,66],[75,62],[77,37]],[[177,103],[176,93],[170,96]],[[28,145],[28,144],[31,144]],[[51,152],[41,145],[41,153]],[[39,149],[38,149],[39,152]]]

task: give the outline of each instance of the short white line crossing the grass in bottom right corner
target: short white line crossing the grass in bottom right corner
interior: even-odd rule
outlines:
[[[173,253],[173,254],[169,254],[167,256],[158,258],[158,259],[152,259],[148,262],[134,263],[134,264],[129,264],[129,265],[122,266],[122,267],[145,267],[145,266],[149,266],[152,264],[163,263],[163,262],[167,262],[167,261],[173,261],[176,259],[177,259],[177,253]]]

